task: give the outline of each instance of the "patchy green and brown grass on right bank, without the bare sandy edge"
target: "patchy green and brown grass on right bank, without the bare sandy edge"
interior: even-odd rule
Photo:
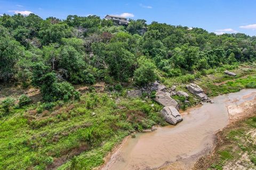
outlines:
[[[218,131],[209,156],[197,160],[193,169],[256,169],[256,112]]]

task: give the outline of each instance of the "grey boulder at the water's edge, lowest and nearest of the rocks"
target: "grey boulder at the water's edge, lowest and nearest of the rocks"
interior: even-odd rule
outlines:
[[[166,122],[173,125],[182,121],[182,116],[177,111],[177,109],[172,106],[165,106],[162,109],[161,114],[164,116]]]

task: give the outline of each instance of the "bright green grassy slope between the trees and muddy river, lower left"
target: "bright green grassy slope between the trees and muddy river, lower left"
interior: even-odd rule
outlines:
[[[165,124],[156,103],[151,107],[151,100],[131,100],[121,94],[115,94],[119,103],[105,93],[87,93],[80,101],[10,109],[0,120],[0,169],[51,169],[74,156],[61,169],[90,169],[102,164],[126,135]]]

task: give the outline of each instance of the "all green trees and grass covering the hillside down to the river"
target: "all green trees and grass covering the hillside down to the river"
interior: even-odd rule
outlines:
[[[155,80],[186,92],[186,83],[196,81],[209,96],[255,88],[255,47],[256,38],[242,33],[217,36],[145,20],[123,27],[95,15],[43,20],[4,14],[0,86],[36,88],[42,98],[1,91],[0,169],[97,167],[126,135],[165,124],[161,106],[147,94],[128,99],[127,89]],[[108,90],[96,93],[97,82]],[[80,94],[77,86],[89,92]],[[193,96],[189,103],[173,98],[182,109],[198,103]],[[225,159],[233,156],[222,152]]]

